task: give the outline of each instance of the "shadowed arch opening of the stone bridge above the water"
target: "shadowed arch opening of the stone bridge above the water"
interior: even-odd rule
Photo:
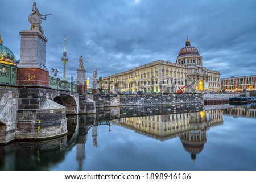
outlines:
[[[72,96],[61,94],[53,98],[53,101],[65,106],[66,114],[77,114],[77,104]]]

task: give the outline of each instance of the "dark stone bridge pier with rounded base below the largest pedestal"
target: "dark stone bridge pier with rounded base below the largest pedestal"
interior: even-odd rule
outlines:
[[[50,139],[67,134],[65,106],[51,98],[49,88],[19,88],[16,139]]]

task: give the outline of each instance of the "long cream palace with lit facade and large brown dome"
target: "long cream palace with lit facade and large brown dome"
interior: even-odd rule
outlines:
[[[125,72],[117,73],[98,80],[99,88],[110,93],[123,91],[143,91],[176,93],[183,86],[186,92],[220,90],[220,72],[203,67],[202,57],[197,48],[187,39],[180,49],[176,63],[154,61]]]

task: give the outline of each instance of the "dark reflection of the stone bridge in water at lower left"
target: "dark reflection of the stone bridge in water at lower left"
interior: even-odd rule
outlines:
[[[65,159],[67,151],[76,147],[77,169],[85,159],[88,131],[94,126],[94,115],[69,115],[68,135],[42,142],[18,142],[0,146],[0,170],[50,170],[52,164]],[[27,161],[29,159],[29,162]],[[24,165],[26,164],[26,165]]]

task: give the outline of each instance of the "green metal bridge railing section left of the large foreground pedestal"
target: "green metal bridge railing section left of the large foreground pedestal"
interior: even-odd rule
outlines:
[[[15,65],[0,63],[0,82],[6,84],[16,84],[17,67]]]

